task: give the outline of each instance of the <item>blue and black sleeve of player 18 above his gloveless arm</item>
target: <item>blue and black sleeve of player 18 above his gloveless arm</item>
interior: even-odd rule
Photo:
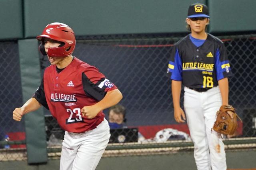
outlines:
[[[172,49],[166,75],[172,80],[182,81],[182,60],[175,47]]]

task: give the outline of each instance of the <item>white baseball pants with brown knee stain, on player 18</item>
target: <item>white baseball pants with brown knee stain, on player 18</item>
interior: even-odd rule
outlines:
[[[222,138],[211,130],[216,112],[222,105],[220,88],[196,92],[184,88],[184,110],[194,143],[194,158],[198,170],[226,170],[226,154]]]

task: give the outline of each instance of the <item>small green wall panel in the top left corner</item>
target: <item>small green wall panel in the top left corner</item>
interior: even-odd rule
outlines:
[[[23,38],[22,0],[0,0],[0,39]]]

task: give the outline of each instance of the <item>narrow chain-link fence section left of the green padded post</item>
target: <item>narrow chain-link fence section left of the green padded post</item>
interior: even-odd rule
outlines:
[[[9,145],[3,141],[23,141],[25,139],[24,121],[12,119],[15,107],[22,106],[20,79],[20,60],[17,41],[0,42],[0,160],[20,157],[18,152],[7,150],[23,149],[26,145]],[[24,142],[22,142],[24,143]]]

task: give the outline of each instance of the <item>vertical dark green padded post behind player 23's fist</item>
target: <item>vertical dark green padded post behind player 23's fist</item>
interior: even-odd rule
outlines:
[[[40,85],[38,41],[19,40],[20,72],[23,101],[26,102]],[[25,115],[28,164],[47,162],[46,132],[43,108]]]

